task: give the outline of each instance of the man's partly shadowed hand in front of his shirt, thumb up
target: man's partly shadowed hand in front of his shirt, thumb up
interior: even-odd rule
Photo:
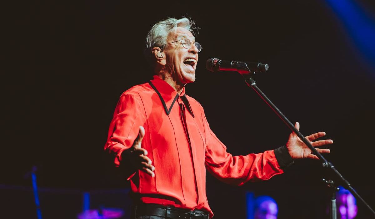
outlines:
[[[147,157],[147,150],[141,148],[143,137],[144,128],[139,126],[139,134],[134,140],[132,147],[129,148],[128,159],[135,168],[147,173],[151,177],[154,177],[155,173],[153,171],[155,170],[155,167],[151,165],[151,159]]]

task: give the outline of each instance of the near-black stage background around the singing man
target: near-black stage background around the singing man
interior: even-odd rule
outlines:
[[[358,6],[374,25],[371,2],[362,0]],[[207,6],[40,1],[10,6],[10,12],[0,184],[31,186],[25,175],[37,166],[40,187],[127,188],[103,151],[114,107],[123,91],[151,78],[142,56],[150,27],[166,17],[185,16],[196,21],[196,41],[202,45],[196,82],[187,85],[186,92],[202,104],[228,152],[273,150],[287,142],[290,130],[240,74],[209,72],[205,61],[218,57],[268,63],[270,70],[255,77],[258,87],[291,122],[300,122],[305,136],[326,131],[334,144],[325,157],[375,207],[375,62],[326,1]],[[330,193],[321,179],[332,177],[316,160],[297,160],[285,174],[242,187],[208,176],[207,196],[214,219],[245,218],[246,191],[275,198],[279,218],[323,218]],[[1,191],[7,194],[2,200],[5,211],[34,218],[31,193]],[[66,203],[59,211],[76,215],[81,199],[74,200],[69,204],[77,211],[66,210]],[[58,195],[42,198],[42,212],[43,204],[60,202]],[[357,204],[357,218],[371,217]]]

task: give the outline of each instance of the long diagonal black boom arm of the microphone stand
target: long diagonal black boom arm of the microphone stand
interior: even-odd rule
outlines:
[[[250,70],[249,70],[250,71]],[[305,139],[305,137],[300,133],[299,130],[297,130],[296,127],[289,121],[289,119],[275,106],[275,104],[272,103],[272,101],[258,88],[257,84],[255,81],[251,78],[252,74],[248,73],[249,71],[238,71],[240,74],[242,74],[243,77],[245,77],[245,82],[248,84],[249,87],[254,89],[255,92],[268,104],[269,107],[280,117],[280,119],[294,132],[297,134],[298,137],[305,143],[310,150],[312,151],[313,154],[319,157],[319,159],[323,162],[322,166],[324,168],[328,168],[332,170],[338,177],[339,179],[344,183],[344,187],[348,188],[348,190],[356,196],[360,201],[365,204],[366,207],[369,208],[369,210],[374,214],[375,216],[375,211],[368,205],[365,200],[356,192],[356,190],[353,189],[353,187],[350,185],[350,183],[335,169],[333,164],[331,162],[328,162],[315,148],[314,146],[311,145],[311,143]],[[251,71],[250,71],[251,72]],[[255,72],[253,72],[254,74]]]

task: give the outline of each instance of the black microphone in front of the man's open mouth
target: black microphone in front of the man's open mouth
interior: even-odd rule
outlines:
[[[267,64],[260,62],[225,61],[218,58],[208,59],[206,62],[208,71],[238,71],[240,74],[252,72],[265,72],[269,69]]]

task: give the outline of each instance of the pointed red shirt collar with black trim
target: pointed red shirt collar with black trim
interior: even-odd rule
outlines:
[[[169,113],[171,113],[174,103],[176,102],[177,98],[180,97],[185,105],[189,105],[187,109],[190,112],[190,114],[192,114],[192,116],[194,117],[189,101],[187,100],[185,95],[185,87],[183,87],[181,93],[178,94],[177,91],[175,91],[175,89],[171,85],[166,83],[157,75],[155,75],[154,79],[148,83],[150,84],[151,88],[155,90],[157,95],[159,95],[160,101],[162,101],[162,104],[164,106],[166,115],[169,115]]]

